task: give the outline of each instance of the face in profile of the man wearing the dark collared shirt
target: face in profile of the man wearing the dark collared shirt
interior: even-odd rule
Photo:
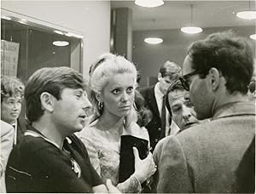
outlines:
[[[64,88],[61,99],[54,100],[52,122],[68,134],[82,130],[87,121],[91,104],[82,88]]]

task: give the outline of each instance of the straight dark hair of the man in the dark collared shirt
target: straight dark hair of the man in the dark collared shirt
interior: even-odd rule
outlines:
[[[30,123],[37,121],[44,114],[40,100],[42,93],[48,92],[60,100],[63,88],[85,89],[83,76],[78,71],[66,66],[46,67],[35,71],[29,77],[25,88],[28,121]]]

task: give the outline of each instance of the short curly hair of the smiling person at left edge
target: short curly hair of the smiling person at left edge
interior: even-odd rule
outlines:
[[[24,84],[17,77],[1,77],[1,103],[3,98],[9,98],[20,94],[23,97]]]

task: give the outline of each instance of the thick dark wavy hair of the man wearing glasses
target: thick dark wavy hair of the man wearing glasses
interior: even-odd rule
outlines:
[[[237,37],[232,31],[214,33],[204,40],[189,46],[189,57],[195,71],[205,71],[205,78],[212,67],[221,71],[226,79],[226,88],[247,94],[247,85],[253,76],[253,52],[245,38]]]

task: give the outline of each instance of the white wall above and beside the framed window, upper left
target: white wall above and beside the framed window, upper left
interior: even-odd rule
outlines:
[[[88,77],[90,64],[109,52],[109,1],[2,1],[1,7],[55,25],[81,31],[84,35],[83,74]]]

